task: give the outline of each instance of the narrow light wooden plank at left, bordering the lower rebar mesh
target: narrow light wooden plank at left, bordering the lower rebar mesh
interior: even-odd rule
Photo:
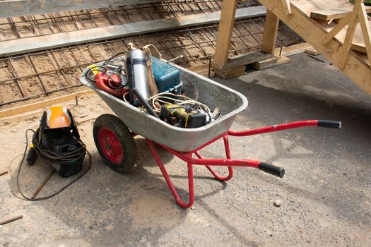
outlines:
[[[43,107],[49,107],[52,104],[61,104],[63,102],[69,101],[69,100],[75,100],[75,98],[78,97],[78,96],[91,95],[94,92],[95,92],[94,90],[85,90],[85,91],[81,91],[81,92],[73,92],[70,95],[64,95],[64,96],[61,96],[61,97],[56,97],[56,98],[49,99],[49,100],[44,100],[44,101],[41,101],[41,102],[26,104],[26,105],[21,106],[21,107],[14,107],[14,108],[11,108],[11,109],[4,109],[4,110],[0,111],[0,119],[4,118],[6,116],[13,116],[13,115],[24,113],[24,112],[31,112],[31,111],[34,111],[36,109],[40,109],[40,108],[43,108]]]

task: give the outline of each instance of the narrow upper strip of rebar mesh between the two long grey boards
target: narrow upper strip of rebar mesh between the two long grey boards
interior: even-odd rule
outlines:
[[[238,8],[259,6],[256,0],[239,3]],[[220,0],[172,0],[154,4],[136,4],[83,11],[65,11],[35,16],[0,18],[0,41],[23,37],[37,37],[58,32],[100,28],[107,25],[122,25],[143,20],[155,20],[159,16],[170,18],[199,13],[220,11]],[[135,18],[140,16],[140,18]]]

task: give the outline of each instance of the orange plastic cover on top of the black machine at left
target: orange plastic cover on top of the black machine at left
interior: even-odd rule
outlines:
[[[64,128],[71,126],[71,117],[67,112],[66,107],[48,107],[47,112],[47,126],[49,128]]]

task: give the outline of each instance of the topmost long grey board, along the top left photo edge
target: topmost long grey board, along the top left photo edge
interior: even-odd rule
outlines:
[[[43,13],[107,8],[132,4],[151,4],[164,0],[13,0],[0,1],[0,18]]]

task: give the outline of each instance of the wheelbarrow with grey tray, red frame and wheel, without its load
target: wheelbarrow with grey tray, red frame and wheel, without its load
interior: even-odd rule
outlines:
[[[98,64],[100,65],[100,64]],[[167,185],[174,195],[175,201],[180,207],[188,208],[194,203],[194,165],[202,165],[219,181],[232,179],[233,167],[253,167],[280,178],[285,170],[273,164],[259,162],[251,159],[232,159],[228,136],[247,136],[284,131],[290,128],[301,128],[308,126],[319,126],[328,128],[341,128],[339,121],[307,120],[293,123],[283,123],[264,128],[256,128],[248,131],[232,131],[230,127],[238,113],[247,108],[247,99],[244,95],[232,90],[213,80],[199,76],[192,71],[172,64],[181,71],[181,80],[190,80],[199,89],[199,101],[208,105],[210,109],[218,107],[223,113],[219,119],[208,123],[201,128],[177,128],[160,119],[133,107],[131,104],[119,100],[107,92],[95,87],[86,73],[89,68],[83,71],[80,80],[83,85],[95,90],[102,100],[117,115],[103,114],[95,120],[93,125],[93,136],[95,145],[108,167],[125,173],[134,166],[136,162],[135,135],[141,135],[146,139],[148,146],[160,167]],[[223,138],[225,147],[225,159],[211,159],[201,155],[201,150]],[[187,163],[189,200],[184,202],[180,198],[177,189],[172,183],[169,174],[161,161],[155,144],[163,147],[167,152],[172,153]],[[228,167],[228,175],[221,176],[213,167]]]

